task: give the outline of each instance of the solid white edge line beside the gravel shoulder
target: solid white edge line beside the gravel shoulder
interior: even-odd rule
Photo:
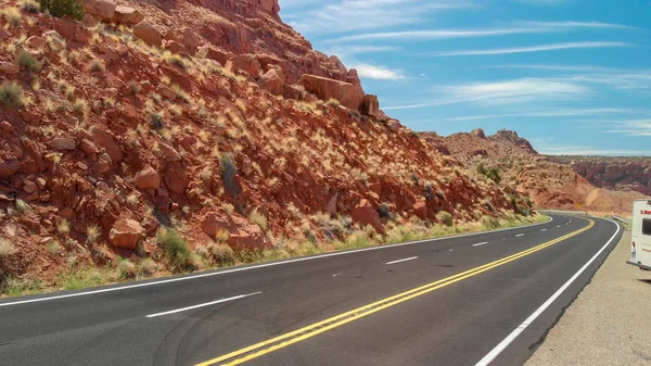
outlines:
[[[558,289],[557,292],[554,292],[551,295],[551,298],[547,299],[547,301],[544,302],[542,305],[540,305],[540,307],[538,307],[532,315],[524,319],[524,321],[522,321],[521,325],[513,329],[513,331],[509,336],[507,336],[507,338],[505,338],[490,352],[488,352],[488,354],[485,355],[484,358],[480,359],[480,362],[477,362],[475,366],[487,366],[497,356],[499,356],[499,354],[502,353],[502,351],[506,350],[507,346],[509,346],[509,344],[511,344],[511,342],[513,342],[515,338],[518,338],[518,336],[520,336],[520,333],[522,333],[532,323],[534,323],[536,318],[540,316],[540,314],[542,314],[542,312],[545,312],[547,307],[549,307],[549,305],[551,305],[551,303],[553,303],[570,287],[570,285],[572,285],[572,282],[574,282],[578,278],[578,276],[580,276],[580,274],[583,274],[584,270],[586,270],[586,268],[588,268],[588,266],[592,264],[592,262],[595,262],[597,257],[599,257],[599,255],[611,244],[611,242],[615,239],[617,234],[620,234],[621,226],[620,224],[611,219],[604,219],[617,226],[617,231],[615,231],[615,234],[610,238],[610,240],[603,247],[601,247],[601,249],[595,255],[592,255],[592,257],[586,264],[584,264],[584,266],[580,267],[580,269],[578,269],[578,272],[565,282],[565,285],[561,286],[561,288]]]

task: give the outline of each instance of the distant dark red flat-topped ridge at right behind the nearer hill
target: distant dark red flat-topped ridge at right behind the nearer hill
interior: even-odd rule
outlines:
[[[651,195],[651,157],[548,156],[569,164],[596,187]]]

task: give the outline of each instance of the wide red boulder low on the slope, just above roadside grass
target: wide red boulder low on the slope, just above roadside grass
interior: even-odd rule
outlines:
[[[259,226],[237,214],[227,216],[208,213],[204,216],[201,227],[210,238],[215,238],[221,230],[228,232],[230,236],[228,243],[234,248],[264,249],[271,247],[271,242]]]

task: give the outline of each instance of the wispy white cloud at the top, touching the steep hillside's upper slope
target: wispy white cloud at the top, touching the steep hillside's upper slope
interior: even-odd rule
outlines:
[[[416,24],[434,12],[473,8],[467,0],[341,0],[291,22],[302,34],[332,34]]]

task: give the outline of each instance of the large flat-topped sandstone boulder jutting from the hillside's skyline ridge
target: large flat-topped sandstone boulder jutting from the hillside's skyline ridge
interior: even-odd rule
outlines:
[[[339,100],[342,105],[352,110],[357,110],[361,102],[362,94],[360,94],[355,86],[349,83],[304,74],[301,76],[298,84],[302,85],[306,91],[317,96],[317,98],[321,100],[333,98]]]

